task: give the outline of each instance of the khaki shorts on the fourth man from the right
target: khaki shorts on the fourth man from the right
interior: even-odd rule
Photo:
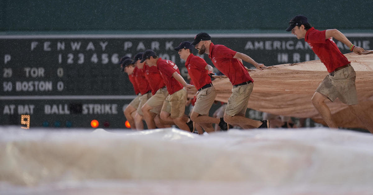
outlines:
[[[162,111],[171,114],[171,118],[182,117],[185,113],[186,89],[182,88],[168,95],[163,102]]]

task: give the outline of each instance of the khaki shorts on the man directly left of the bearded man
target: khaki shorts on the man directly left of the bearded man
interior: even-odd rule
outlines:
[[[209,115],[211,105],[216,97],[216,89],[214,86],[205,88],[198,92],[197,100],[195,101],[193,112],[201,115]]]

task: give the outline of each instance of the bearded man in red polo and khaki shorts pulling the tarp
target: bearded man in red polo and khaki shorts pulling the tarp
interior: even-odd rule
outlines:
[[[266,66],[258,64],[244,53],[233,51],[224,45],[214,45],[210,35],[205,32],[198,33],[192,45],[195,45],[200,55],[207,53],[215,67],[225,74],[233,85],[232,95],[225,109],[224,121],[228,124],[239,125],[243,129],[269,128],[269,120],[256,121],[245,117],[254,80],[245,69],[242,60],[249,62],[259,70],[263,70]]]

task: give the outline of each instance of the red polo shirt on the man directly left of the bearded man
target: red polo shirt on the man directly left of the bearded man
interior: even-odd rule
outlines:
[[[207,74],[206,61],[198,56],[191,53],[185,61],[185,67],[188,69],[188,73],[191,79],[191,83],[194,84],[195,88],[200,89],[204,85],[211,83],[211,78]]]

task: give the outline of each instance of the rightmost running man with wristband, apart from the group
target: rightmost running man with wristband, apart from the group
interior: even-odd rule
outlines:
[[[361,55],[360,52],[363,52],[364,49],[353,45],[337,29],[323,31],[314,29],[308,23],[307,17],[303,15],[297,15],[291,19],[286,31],[291,31],[298,39],[304,39],[329,72],[319,87],[317,87],[311,99],[312,104],[326,124],[330,128],[338,128],[335,121],[333,121],[329,107],[325,104],[326,99],[334,101],[338,97],[342,103],[348,105],[350,111],[361,121],[367,130],[373,133],[373,120],[368,114],[364,113],[357,99],[354,68],[352,68],[351,62],[347,60],[346,56],[339,51],[333,38],[347,45],[350,51],[358,55]]]

